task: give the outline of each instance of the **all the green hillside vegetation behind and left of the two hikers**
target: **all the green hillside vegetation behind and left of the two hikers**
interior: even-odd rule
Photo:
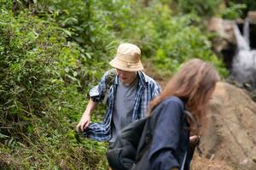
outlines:
[[[108,169],[108,144],[75,126],[119,43],[137,44],[160,81],[195,57],[225,78],[206,22],[255,8],[253,0],[0,0],[0,169]]]

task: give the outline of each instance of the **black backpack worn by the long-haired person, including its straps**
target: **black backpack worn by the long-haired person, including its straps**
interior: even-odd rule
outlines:
[[[149,167],[149,162],[145,159],[152,141],[151,129],[154,129],[156,117],[162,108],[158,105],[150,116],[132,122],[121,130],[107,151],[108,163],[113,170],[143,170]],[[189,119],[194,119],[189,111],[184,111],[183,122],[186,122],[188,116]],[[189,148],[190,158],[194,150],[195,146]]]

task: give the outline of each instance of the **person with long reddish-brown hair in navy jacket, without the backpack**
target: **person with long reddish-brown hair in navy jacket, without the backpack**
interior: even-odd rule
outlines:
[[[207,106],[218,81],[218,72],[201,59],[191,59],[183,64],[150,104],[150,116],[154,120],[151,144],[135,167],[189,169],[192,159],[189,136],[201,135]]]

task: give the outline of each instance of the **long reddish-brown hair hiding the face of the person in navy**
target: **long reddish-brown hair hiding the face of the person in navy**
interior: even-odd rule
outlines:
[[[185,101],[186,110],[190,111],[195,118],[194,122],[188,120],[190,132],[201,134],[207,106],[218,81],[218,72],[211,64],[201,59],[190,59],[167,83],[162,93],[151,101],[150,110],[167,97],[176,95]]]

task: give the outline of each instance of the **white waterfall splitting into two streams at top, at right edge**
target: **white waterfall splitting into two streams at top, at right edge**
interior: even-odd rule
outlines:
[[[237,50],[233,58],[230,77],[241,84],[249,84],[251,88],[256,88],[256,50],[251,50],[249,46],[249,22],[246,19],[243,26],[243,35],[237,25],[233,26]]]

